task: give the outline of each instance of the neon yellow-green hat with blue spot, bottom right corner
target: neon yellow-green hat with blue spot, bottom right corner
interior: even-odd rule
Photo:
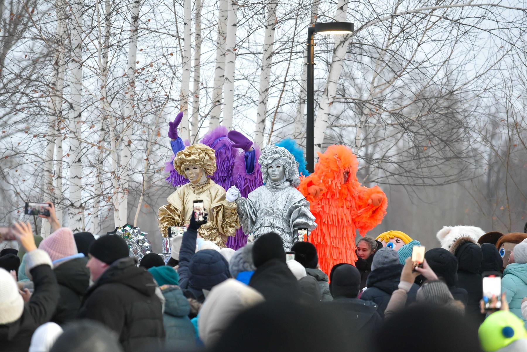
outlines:
[[[489,315],[480,325],[477,334],[485,352],[494,352],[513,341],[527,338],[523,320],[505,310]]]

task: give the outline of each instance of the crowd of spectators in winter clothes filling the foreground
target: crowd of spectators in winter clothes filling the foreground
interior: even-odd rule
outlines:
[[[527,351],[527,240],[486,311],[482,273],[504,265],[489,243],[429,249],[416,267],[418,241],[363,237],[356,262],[326,273],[313,244],[286,260],[273,232],[236,251],[198,245],[191,216],[166,264],[138,263],[121,236],[72,233],[50,210],[50,236],[16,223],[19,249],[0,253],[1,351]]]

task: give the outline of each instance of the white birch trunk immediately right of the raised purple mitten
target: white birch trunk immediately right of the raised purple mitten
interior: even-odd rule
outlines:
[[[191,60],[191,40],[192,40],[192,12],[191,0],[183,2],[183,73],[181,76],[181,93],[179,97],[179,106],[184,113],[178,134],[181,139],[190,140],[189,130],[189,90],[190,90],[190,60]]]

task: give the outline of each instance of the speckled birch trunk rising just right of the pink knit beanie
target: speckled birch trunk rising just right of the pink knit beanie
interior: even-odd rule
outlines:
[[[72,36],[72,62],[71,71],[71,103],[70,103],[70,206],[68,208],[68,226],[73,232],[84,230],[84,209],[82,203],[82,152],[81,152],[81,126],[82,126],[82,34],[84,23],[82,0],[71,5],[73,13]]]

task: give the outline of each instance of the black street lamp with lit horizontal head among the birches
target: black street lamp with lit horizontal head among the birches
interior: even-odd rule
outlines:
[[[307,30],[307,118],[306,118],[306,157],[307,170],[314,171],[315,160],[315,103],[314,103],[314,66],[315,66],[315,33],[349,34],[353,33],[353,23],[326,22],[317,23]],[[324,133],[324,131],[319,131]]]

